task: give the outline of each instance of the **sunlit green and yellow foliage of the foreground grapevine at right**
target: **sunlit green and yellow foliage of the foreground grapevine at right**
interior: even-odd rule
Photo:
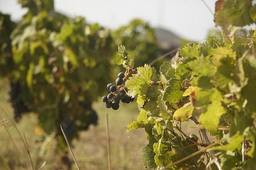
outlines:
[[[127,131],[145,128],[148,134],[149,144],[142,148],[145,168],[155,168],[155,163],[158,168],[205,169],[204,158],[211,169],[218,169],[210,161],[215,151],[223,169],[255,167],[256,31],[235,28],[254,22],[255,7],[250,0],[216,4],[215,21],[223,33],[215,35],[221,37],[181,48],[177,58],[159,69],[145,64],[128,76],[125,86],[137,97],[140,114]],[[184,121],[203,127],[204,139],[185,134]],[[223,138],[220,146],[176,164],[199,151],[198,146],[210,144],[205,130],[217,141]]]

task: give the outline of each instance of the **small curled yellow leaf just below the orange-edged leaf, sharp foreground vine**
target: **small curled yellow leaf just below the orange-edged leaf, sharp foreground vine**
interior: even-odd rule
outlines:
[[[181,107],[177,109],[174,114],[173,114],[173,119],[176,121],[188,121],[189,118],[192,116],[192,113],[194,111],[194,106],[186,106],[186,107]]]

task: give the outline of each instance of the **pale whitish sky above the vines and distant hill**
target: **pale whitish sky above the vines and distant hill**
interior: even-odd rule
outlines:
[[[204,0],[214,11],[215,0]],[[117,28],[132,18],[142,18],[154,27],[163,27],[178,36],[203,41],[214,28],[213,14],[202,0],[55,0],[55,9],[71,17],[83,16],[88,22],[99,22]],[[17,0],[0,0],[0,11],[21,19],[26,10]]]

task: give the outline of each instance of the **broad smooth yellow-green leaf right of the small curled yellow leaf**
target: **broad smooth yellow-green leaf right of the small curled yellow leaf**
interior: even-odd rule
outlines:
[[[200,115],[199,121],[207,131],[214,134],[218,131],[220,116],[225,112],[221,103],[214,101],[207,107],[206,112]]]

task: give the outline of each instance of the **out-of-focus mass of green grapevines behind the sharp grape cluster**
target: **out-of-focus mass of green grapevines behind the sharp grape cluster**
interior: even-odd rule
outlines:
[[[110,30],[55,12],[53,0],[18,2],[28,8],[21,21],[0,13],[0,76],[16,120],[36,113],[42,140],[53,133],[65,148],[60,124],[70,139],[97,124],[92,103],[115,78],[117,46],[125,44],[136,64],[149,63],[160,54],[155,32],[140,19]]]

